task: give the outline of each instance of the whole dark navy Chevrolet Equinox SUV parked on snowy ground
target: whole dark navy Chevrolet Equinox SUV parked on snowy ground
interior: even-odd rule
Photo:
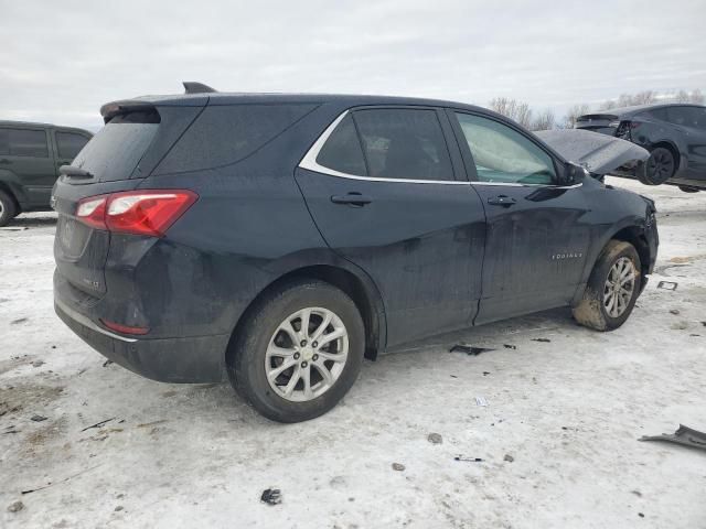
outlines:
[[[422,336],[566,305],[616,328],[654,266],[651,201],[478,107],[203,93],[101,114],[54,188],[58,316],[146,377],[229,377],[274,420]]]

